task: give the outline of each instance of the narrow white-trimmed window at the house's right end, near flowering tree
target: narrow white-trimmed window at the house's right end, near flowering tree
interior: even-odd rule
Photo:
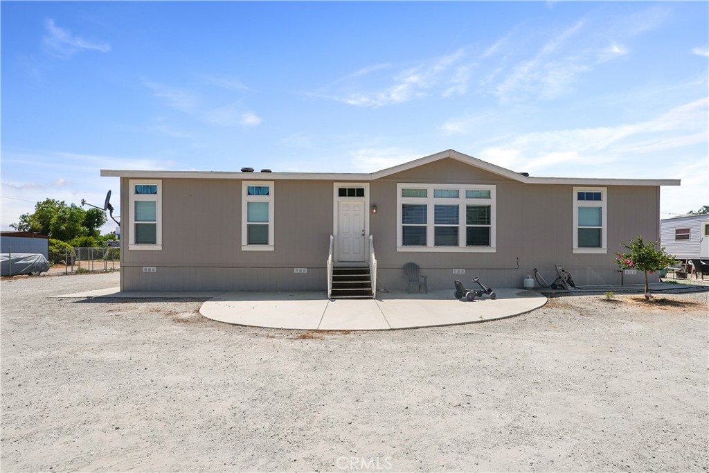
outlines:
[[[607,200],[605,187],[574,187],[574,253],[608,252]]]

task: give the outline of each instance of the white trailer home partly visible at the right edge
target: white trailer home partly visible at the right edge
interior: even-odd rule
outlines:
[[[709,214],[662,219],[660,244],[678,260],[709,260]]]

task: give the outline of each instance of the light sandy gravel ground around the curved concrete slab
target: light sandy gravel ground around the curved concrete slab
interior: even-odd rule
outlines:
[[[709,467],[707,293],[379,333],[48,297],[116,285],[0,283],[3,472]]]

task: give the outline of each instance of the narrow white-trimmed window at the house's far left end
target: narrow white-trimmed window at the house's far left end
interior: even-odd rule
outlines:
[[[130,179],[128,249],[162,250],[162,181]]]

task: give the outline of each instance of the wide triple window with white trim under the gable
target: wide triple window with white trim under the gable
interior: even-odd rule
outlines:
[[[397,251],[494,252],[495,190],[397,184]]]

